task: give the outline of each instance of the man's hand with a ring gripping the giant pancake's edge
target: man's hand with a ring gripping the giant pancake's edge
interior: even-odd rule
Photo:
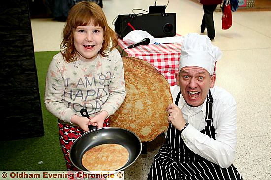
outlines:
[[[174,103],[167,107],[168,111],[168,122],[181,131],[185,126],[185,120],[181,109]]]

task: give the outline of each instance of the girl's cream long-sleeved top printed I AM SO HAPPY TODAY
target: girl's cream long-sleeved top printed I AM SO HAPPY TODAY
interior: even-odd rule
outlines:
[[[61,53],[49,65],[44,102],[60,120],[71,123],[72,115],[81,116],[86,108],[90,116],[102,110],[112,115],[122,104],[126,92],[122,58],[114,49],[92,62],[80,59],[68,63]]]

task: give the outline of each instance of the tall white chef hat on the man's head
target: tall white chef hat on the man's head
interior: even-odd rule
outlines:
[[[221,55],[220,49],[212,45],[208,36],[189,33],[182,43],[179,72],[186,66],[198,66],[213,75],[215,63]]]

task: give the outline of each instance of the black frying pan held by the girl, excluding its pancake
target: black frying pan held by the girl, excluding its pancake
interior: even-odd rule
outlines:
[[[86,109],[82,109],[81,114],[89,118]],[[73,142],[69,152],[69,158],[72,164],[81,171],[88,171],[82,165],[83,155],[86,151],[98,145],[120,144],[127,149],[129,159],[123,167],[116,169],[116,171],[122,171],[132,165],[142,151],[140,138],[130,130],[117,127],[96,129],[96,127],[93,126],[89,126],[89,129],[90,131],[84,133]]]

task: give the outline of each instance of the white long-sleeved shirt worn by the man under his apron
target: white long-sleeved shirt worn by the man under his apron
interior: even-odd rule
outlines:
[[[236,102],[234,97],[220,87],[211,88],[213,103],[213,126],[216,140],[200,132],[205,126],[206,100],[199,107],[190,107],[180,96],[178,107],[189,125],[183,130],[181,137],[185,145],[194,153],[218,164],[222,168],[229,167],[235,156],[236,135]],[[175,102],[179,86],[171,87]]]

